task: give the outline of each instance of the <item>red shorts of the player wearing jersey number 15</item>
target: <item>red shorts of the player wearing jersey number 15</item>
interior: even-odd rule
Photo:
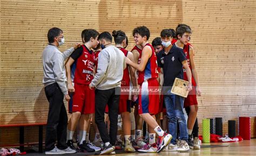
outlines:
[[[90,89],[88,84],[79,83],[75,83],[74,88],[75,93],[69,101],[69,112],[95,113],[95,90]]]

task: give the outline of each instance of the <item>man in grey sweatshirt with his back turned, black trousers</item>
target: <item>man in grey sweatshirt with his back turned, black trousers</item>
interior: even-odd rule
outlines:
[[[99,53],[97,73],[89,87],[96,87],[95,122],[98,126],[100,137],[105,143],[105,148],[100,154],[107,154],[114,150],[112,145],[116,143],[117,139],[120,87],[126,64],[124,53],[111,44],[112,36],[109,32],[99,34],[98,40],[103,50]],[[109,107],[109,134],[104,122],[106,104]]]

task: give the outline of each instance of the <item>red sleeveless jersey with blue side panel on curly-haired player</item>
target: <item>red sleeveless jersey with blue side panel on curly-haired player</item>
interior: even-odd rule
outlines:
[[[145,46],[151,47],[152,55],[149,58],[149,60],[147,61],[145,69],[142,72],[138,72],[138,74],[139,74],[138,75],[138,84],[142,84],[145,80],[149,80],[149,79],[158,77],[157,55],[154,52],[154,48],[151,44],[147,43]]]

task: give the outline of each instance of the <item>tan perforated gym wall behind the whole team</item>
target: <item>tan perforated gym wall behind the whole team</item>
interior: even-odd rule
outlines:
[[[64,31],[65,44],[80,42],[80,33],[123,30],[134,46],[132,30],[145,25],[150,42],[165,28],[191,26],[191,44],[202,97],[199,103],[199,133],[203,118],[256,116],[256,1],[85,1],[85,0],[0,0],[0,124],[44,123],[48,101],[42,84],[42,51],[51,27]],[[256,137],[255,118],[251,137]],[[26,141],[37,141],[36,128],[28,128]],[[26,129],[25,129],[26,131]],[[1,128],[1,136],[17,138],[15,127]],[[35,137],[33,137],[35,136]],[[18,143],[18,138],[16,143]],[[9,143],[0,137],[0,145]]]

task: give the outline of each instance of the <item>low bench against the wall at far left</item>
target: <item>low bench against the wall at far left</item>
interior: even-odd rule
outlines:
[[[9,124],[0,125],[0,127],[19,127],[19,150],[24,151],[24,127],[25,126],[38,126],[38,152],[43,152],[43,126],[46,123],[36,123],[36,124]],[[15,146],[15,145],[3,145],[3,146]]]

